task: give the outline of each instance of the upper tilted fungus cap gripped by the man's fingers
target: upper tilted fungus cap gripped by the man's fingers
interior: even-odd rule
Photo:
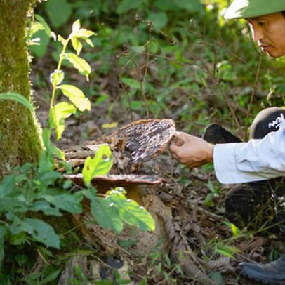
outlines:
[[[131,164],[142,164],[166,149],[175,132],[172,119],[134,121],[110,135],[110,139],[125,139],[125,150],[130,152]]]

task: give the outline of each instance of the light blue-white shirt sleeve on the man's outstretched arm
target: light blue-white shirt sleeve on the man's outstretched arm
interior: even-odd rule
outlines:
[[[262,140],[214,146],[213,164],[220,183],[247,183],[285,174],[285,121]]]

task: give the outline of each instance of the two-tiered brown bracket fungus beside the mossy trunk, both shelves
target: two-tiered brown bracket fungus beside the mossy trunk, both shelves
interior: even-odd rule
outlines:
[[[131,166],[138,166],[163,152],[174,132],[175,122],[172,119],[147,119],[134,121],[123,126],[103,140],[104,143],[110,145],[113,159],[117,164],[128,161]],[[90,152],[98,150],[98,146],[94,142],[92,144],[89,142],[84,144],[81,149],[77,147],[71,152],[69,150],[65,153],[67,161],[72,162],[73,166],[80,166],[84,164],[84,159],[90,155]],[[109,175],[96,176],[91,180],[91,183],[96,187],[105,189],[106,187],[127,185],[159,185],[164,182],[164,179],[157,175],[126,174],[128,172],[126,168],[121,170],[125,170],[123,174],[115,173],[116,175],[113,175],[115,171],[111,170],[112,175],[110,173]],[[64,177],[77,185],[84,185],[81,174],[64,175]]]

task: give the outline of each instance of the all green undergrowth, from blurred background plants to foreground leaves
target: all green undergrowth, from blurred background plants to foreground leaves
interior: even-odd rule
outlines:
[[[242,20],[225,22],[227,2],[48,0],[37,7],[27,41],[33,57],[34,96],[39,112],[44,113],[46,150],[38,166],[15,169],[0,185],[0,284],[57,284],[62,263],[67,261],[64,253],[79,251],[72,248],[72,239],[80,238],[77,229],[58,234],[58,220],[54,222],[51,216],[62,219],[65,213],[81,213],[83,199],[90,200],[91,213],[102,227],[120,232],[127,223],[154,230],[150,214],[129,201],[124,189],[100,197],[90,185],[95,175],[110,171],[112,156],[106,145],[93,159],[86,159],[82,171],[85,186],[80,191],[75,192],[72,183],[62,179],[58,169],[70,173],[71,168],[51,140],[62,137],[72,142],[74,134],[67,139],[64,132],[68,131],[65,119],[71,115],[77,121],[92,119],[96,125],[96,131],[79,130],[77,135],[85,140],[134,119],[163,117],[174,119],[179,130],[195,135],[201,135],[210,122],[217,122],[246,140],[248,127],[261,109],[284,105],[283,60],[273,62],[260,54]],[[74,68],[88,81],[74,74]],[[201,205],[205,211],[220,205],[216,208],[223,213],[223,190],[212,178],[212,166],[204,166],[201,172],[208,179]],[[183,166],[178,166],[177,173],[167,174],[180,187],[192,183]],[[196,186],[201,187],[201,182]],[[232,246],[234,241],[249,235],[230,223],[226,228],[231,233],[227,232],[224,241],[213,239],[201,251],[211,247],[215,253],[234,258],[239,253]],[[91,254],[94,248],[80,243]],[[125,246],[131,247],[131,241]],[[60,254],[54,248],[61,248]],[[278,253],[272,251],[273,255]],[[41,257],[43,272],[34,270],[35,256]],[[184,278],[183,270],[167,255],[156,252],[150,260],[149,274],[140,284],[153,280],[179,284]],[[218,272],[211,277],[223,284]],[[78,269],[72,284],[90,284],[84,278]],[[114,279],[95,284],[131,284],[118,274]]]

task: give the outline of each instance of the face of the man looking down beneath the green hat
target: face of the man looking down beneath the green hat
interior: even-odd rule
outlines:
[[[285,55],[285,18],[281,12],[246,20],[262,51],[272,58]]]

